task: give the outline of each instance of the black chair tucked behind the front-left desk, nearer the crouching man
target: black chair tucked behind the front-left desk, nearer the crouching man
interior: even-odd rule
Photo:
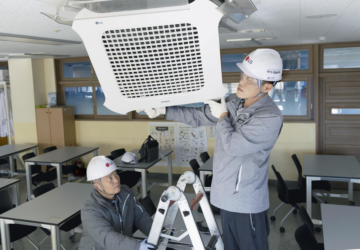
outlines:
[[[36,188],[33,193],[34,193],[34,196],[35,197],[38,197],[52,189],[54,189],[55,186],[53,183],[48,183],[48,184],[45,184],[45,185],[42,185],[38,188]],[[71,231],[72,229],[74,228],[78,228],[81,230],[81,232],[83,232],[82,228],[80,228],[81,224],[81,214],[79,213],[78,215],[75,215],[73,218],[67,220],[64,224],[62,224],[62,226],[60,226],[60,230],[64,231],[64,232],[69,232]],[[45,229],[45,228],[44,228]],[[49,235],[50,235],[50,231],[48,231],[47,229],[45,229]],[[45,232],[46,233],[46,232]],[[48,234],[46,233],[46,234]],[[74,242],[75,241],[75,235],[72,235],[70,234],[70,237],[69,237],[69,240],[71,240],[71,242]],[[63,248],[65,249],[65,248]]]

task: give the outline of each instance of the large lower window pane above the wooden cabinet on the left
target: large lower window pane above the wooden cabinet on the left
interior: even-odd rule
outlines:
[[[73,105],[75,115],[94,115],[93,87],[65,87],[65,105]]]

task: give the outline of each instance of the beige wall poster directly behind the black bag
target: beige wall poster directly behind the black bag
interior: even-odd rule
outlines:
[[[173,150],[172,165],[177,166],[176,161],[176,122],[149,122],[149,134],[158,141],[159,150]],[[167,158],[167,157],[166,157]],[[167,162],[161,160],[156,165],[167,166]]]

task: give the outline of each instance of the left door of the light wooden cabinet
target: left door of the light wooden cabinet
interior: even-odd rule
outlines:
[[[39,145],[39,154],[42,154],[44,148],[51,146],[49,108],[35,108],[37,144]]]

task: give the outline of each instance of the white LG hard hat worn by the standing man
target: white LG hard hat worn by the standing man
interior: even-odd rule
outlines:
[[[276,50],[257,49],[236,64],[246,75],[265,81],[280,81],[283,61]]]

